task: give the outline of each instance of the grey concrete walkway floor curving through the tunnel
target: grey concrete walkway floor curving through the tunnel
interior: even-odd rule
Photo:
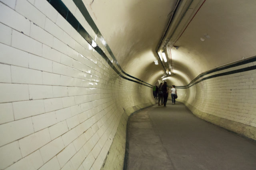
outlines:
[[[124,169],[256,170],[256,142],[194,116],[180,102],[131,115]]]

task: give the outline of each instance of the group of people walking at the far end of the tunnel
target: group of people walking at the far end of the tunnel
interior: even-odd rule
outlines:
[[[157,89],[157,92],[156,92],[156,89]],[[163,106],[163,105],[166,106],[167,99],[168,99],[168,92],[169,92],[169,90],[168,90],[168,85],[167,85],[166,81],[164,82],[164,84],[160,83],[160,85],[158,87],[154,86],[153,94],[154,94],[154,98],[157,98],[157,95],[158,95],[158,106]],[[172,104],[175,104],[175,99],[177,98],[176,97],[177,90],[174,85],[172,85],[170,93],[172,96]],[[160,104],[160,100],[161,100],[161,104]]]

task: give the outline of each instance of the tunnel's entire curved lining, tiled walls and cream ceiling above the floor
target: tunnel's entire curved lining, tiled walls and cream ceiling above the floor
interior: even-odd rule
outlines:
[[[0,0],[0,169],[122,169],[128,117],[156,104],[163,81],[197,117],[256,140],[255,11],[255,0]]]

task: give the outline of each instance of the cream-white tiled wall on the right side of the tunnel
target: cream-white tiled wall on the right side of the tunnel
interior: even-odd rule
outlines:
[[[252,65],[255,63],[243,64],[214,74]],[[204,77],[207,76],[209,75]],[[184,94],[178,100],[184,102],[199,117],[255,140],[255,80],[256,70],[210,78],[188,89],[178,89],[178,93]]]

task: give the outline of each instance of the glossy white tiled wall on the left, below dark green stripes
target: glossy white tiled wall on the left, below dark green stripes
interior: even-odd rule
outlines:
[[[46,0],[0,1],[0,169],[117,167],[152,89],[120,78]]]

